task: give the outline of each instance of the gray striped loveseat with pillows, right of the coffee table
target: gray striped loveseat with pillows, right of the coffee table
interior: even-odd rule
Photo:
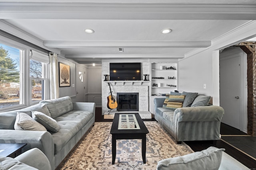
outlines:
[[[164,102],[166,100],[168,102],[168,97],[155,98],[155,119],[174,137],[177,143],[220,139],[220,121],[224,115],[224,109],[220,106],[208,106],[210,96],[197,93],[191,95],[188,92],[182,94],[171,92],[171,95],[186,96],[182,101],[183,107],[164,107]]]

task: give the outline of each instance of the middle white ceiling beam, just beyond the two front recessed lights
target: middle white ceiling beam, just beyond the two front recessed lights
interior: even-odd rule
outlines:
[[[78,48],[78,47],[155,47],[155,48],[204,48],[211,45],[211,41],[44,41],[49,48]]]

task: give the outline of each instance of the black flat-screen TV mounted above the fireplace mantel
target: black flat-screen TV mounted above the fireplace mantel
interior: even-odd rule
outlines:
[[[110,81],[141,80],[141,63],[110,63]]]

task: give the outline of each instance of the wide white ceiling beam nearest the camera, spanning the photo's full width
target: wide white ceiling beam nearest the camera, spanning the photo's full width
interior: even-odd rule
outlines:
[[[250,3],[0,2],[2,19],[255,20]]]

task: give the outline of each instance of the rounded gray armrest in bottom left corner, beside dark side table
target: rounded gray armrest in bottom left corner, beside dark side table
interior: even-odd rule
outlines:
[[[27,150],[15,157],[16,160],[38,170],[51,170],[51,165],[45,154],[38,148]]]

